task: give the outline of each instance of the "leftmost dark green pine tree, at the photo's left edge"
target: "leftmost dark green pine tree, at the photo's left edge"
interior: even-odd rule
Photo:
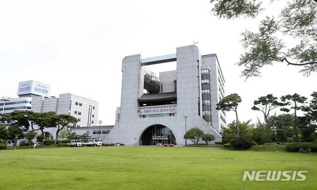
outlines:
[[[9,123],[11,127],[11,132],[15,131],[15,138],[14,138],[14,146],[17,142],[17,137],[20,135],[20,133],[23,131],[23,129],[28,129],[29,119],[28,115],[31,115],[33,112],[31,111],[21,111],[21,110],[14,110],[10,114],[3,114],[1,116],[1,120],[5,121],[6,123]]]

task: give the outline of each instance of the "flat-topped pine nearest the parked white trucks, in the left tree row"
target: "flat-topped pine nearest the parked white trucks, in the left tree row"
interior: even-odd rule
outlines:
[[[61,115],[53,115],[50,120],[50,124],[52,126],[56,126],[56,138],[54,144],[57,143],[57,139],[59,138],[59,133],[61,130],[63,130],[64,127],[70,127],[72,125],[75,125],[77,123],[77,119],[73,116],[61,114]]]

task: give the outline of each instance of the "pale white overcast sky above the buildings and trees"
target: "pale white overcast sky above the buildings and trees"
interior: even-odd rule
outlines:
[[[114,125],[124,57],[174,54],[194,41],[202,55],[217,54],[225,95],[242,97],[240,121],[263,121],[251,110],[258,97],[298,93],[310,100],[317,91],[317,73],[307,78],[298,72],[301,67],[286,63],[267,66],[262,77],[246,82],[239,76],[240,34],[256,32],[266,14],[279,13],[281,3],[256,19],[219,20],[209,12],[208,0],[0,0],[0,97],[16,98],[20,81],[37,80],[51,85],[51,96],[72,93],[96,100],[98,120]],[[172,63],[152,69],[176,68]],[[227,123],[233,120],[235,114],[227,113]]]

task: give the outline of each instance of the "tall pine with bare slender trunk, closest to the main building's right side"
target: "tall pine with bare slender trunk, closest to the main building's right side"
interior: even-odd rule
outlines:
[[[224,97],[222,100],[219,101],[217,104],[216,110],[222,111],[234,111],[236,113],[236,124],[237,124],[237,136],[240,136],[239,133],[239,122],[238,122],[238,112],[237,108],[239,103],[242,102],[241,97],[234,93]]]

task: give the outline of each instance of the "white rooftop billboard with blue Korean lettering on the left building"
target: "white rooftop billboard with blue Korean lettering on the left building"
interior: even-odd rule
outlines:
[[[39,96],[50,97],[51,86],[35,80],[19,82],[17,95],[36,94]]]

